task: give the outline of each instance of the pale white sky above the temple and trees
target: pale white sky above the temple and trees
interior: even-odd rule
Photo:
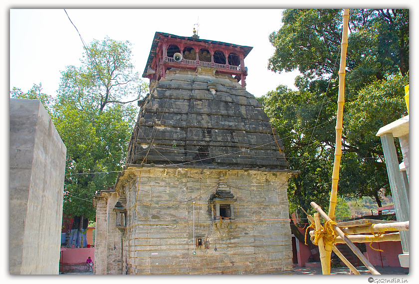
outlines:
[[[65,13],[65,11],[68,14]],[[42,84],[55,95],[61,73],[80,65],[83,44],[110,37],[132,43],[136,71],[143,73],[156,31],[252,46],[244,59],[246,90],[256,97],[282,84],[291,89],[299,73],[267,69],[274,53],[268,36],[281,26],[282,9],[10,9],[10,90]],[[69,18],[75,25],[70,22]],[[199,24],[196,25],[196,24]],[[148,82],[148,79],[145,79]]]

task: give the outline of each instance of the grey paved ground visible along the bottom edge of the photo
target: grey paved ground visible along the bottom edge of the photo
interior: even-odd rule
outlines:
[[[371,274],[365,266],[360,266],[356,268],[361,274]],[[380,272],[382,275],[406,275],[409,274],[409,268],[404,267],[392,267],[392,266],[385,266],[384,269],[382,267],[376,267],[376,270]],[[83,274],[83,275],[93,275],[93,272],[68,272],[63,273],[64,275],[67,274]],[[294,267],[294,275],[315,275],[315,274],[322,274],[322,269],[320,267],[316,268],[309,268],[309,267]],[[337,267],[332,268],[331,274],[349,274],[349,268],[347,267]]]

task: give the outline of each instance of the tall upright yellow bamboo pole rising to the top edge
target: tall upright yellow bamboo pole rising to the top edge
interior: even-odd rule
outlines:
[[[343,29],[341,43],[341,61],[339,68],[339,95],[338,95],[338,111],[336,116],[336,146],[335,160],[333,163],[332,173],[332,192],[330,194],[329,217],[335,220],[335,208],[338,195],[339,168],[342,157],[342,130],[343,130],[343,105],[345,104],[345,67],[346,67],[346,50],[348,48],[348,23],[349,9],[343,9]]]

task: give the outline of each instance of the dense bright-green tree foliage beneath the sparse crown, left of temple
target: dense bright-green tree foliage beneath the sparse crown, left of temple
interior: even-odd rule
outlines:
[[[92,195],[113,185],[122,169],[136,112],[121,105],[103,112],[69,105],[58,112],[55,125],[67,146],[63,211],[93,220]]]

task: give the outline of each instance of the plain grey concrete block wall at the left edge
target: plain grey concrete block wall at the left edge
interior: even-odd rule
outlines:
[[[66,151],[40,101],[10,99],[10,274],[58,274]]]

